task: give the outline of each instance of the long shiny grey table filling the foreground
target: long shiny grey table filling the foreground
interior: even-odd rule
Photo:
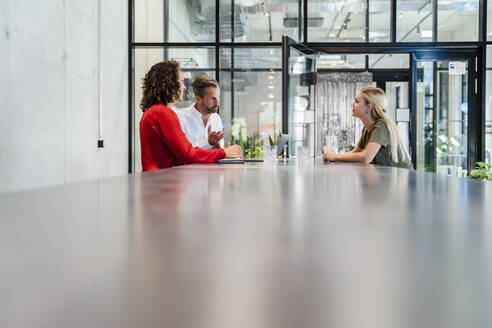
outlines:
[[[0,195],[0,327],[492,327],[492,182],[202,164]]]

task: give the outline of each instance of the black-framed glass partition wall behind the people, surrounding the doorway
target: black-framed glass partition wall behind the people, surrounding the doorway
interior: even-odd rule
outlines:
[[[473,159],[490,161],[492,88],[485,78],[492,69],[486,69],[485,57],[492,23],[485,22],[491,1],[129,0],[129,172],[140,170],[141,78],[166,59],[181,63],[187,86],[199,74],[219,80],[226,144],[240,143],[257,156],[258,141],[288,120],[282,112],[282,35],[324,52],[318,74],[373,73],[374,83],[386,87],[395,106],[399,102],[393,115],[415,161],[416,122],[408,118],[413,119],[419,101],[412,80],[422,73],[409,64],[409,54],[474,49],[476,81],[474,76],[467,83],[477,83],[479,103],[467,114],[472,122],[467,129],[480,131],[468,143],[477,149]],[[388,74],[393,78],[386,79]],[[399,74],[407,74],[406,80]],[[188,88],[176,106],[189,106],[193,99]]]

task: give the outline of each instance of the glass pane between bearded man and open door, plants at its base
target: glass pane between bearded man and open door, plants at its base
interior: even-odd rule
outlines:
[[[221,48],[221,107],[225,144],[248,158],[262,156],[263,140],[282,129],[280,48]]]

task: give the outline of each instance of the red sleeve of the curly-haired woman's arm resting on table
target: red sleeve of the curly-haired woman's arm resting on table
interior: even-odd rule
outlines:
[[[186,138],[178,116],[172,109],[166,108],[155,119],[154,129],[179,161],[186,164],[215,163],[226,157],[224,149],[194,148]]]

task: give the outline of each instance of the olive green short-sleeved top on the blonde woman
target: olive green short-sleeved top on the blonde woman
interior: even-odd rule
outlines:
[[[381,145],[371,164],[413,169],[412,162],[409,159],[404,161],[400,152],[398,152],[398,163],[393,162],[391,159],[390,133],[386,122],[382,118],[376,120],[371,131],[368,131],[365,127],[362,129],[362,136],[357,145],[361,149],[365,149],[369,142],[375,142]]]

